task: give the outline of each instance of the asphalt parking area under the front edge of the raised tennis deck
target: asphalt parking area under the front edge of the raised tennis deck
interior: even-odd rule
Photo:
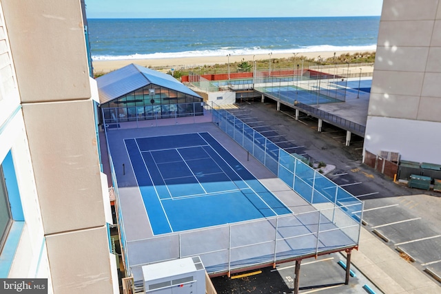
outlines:
[[[345,258],[340,253],[302,260],[300,266],[300,293],[367,293],[369,288],[382,293],[355,267],[351,267],[349,285],[345,285]],[[218,294],[276,294],[292,293],[294,288],[295,262],[278,264],[247,273],[215,277],[212,282]],[[260,272],[261,271],[261,272]],[[237,278],[236,278],[237,277]]]

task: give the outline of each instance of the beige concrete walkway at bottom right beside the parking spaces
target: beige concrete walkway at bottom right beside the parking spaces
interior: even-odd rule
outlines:
[[[364,228],[361,230],[358,251],[352,251],[351,264],[386,294],[441,293],[440,284]]]

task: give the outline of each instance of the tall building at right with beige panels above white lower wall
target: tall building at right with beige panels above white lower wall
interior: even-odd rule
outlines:
[[[365,149],[441,164],[441,3],[384,0]]]

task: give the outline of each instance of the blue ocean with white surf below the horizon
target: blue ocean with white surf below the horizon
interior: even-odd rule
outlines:
[[[92,59],[376,50],[380,17],[88,19]]]

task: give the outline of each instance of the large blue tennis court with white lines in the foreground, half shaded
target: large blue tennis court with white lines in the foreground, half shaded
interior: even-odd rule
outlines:
[[[207,132],[124,141],[154,235],[291,213]]]

